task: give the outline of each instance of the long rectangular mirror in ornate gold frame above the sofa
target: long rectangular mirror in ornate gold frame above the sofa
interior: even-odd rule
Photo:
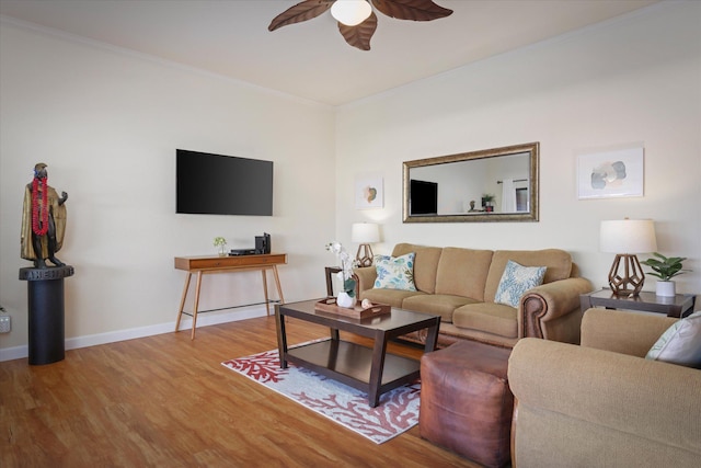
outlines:
[[[403,163],[404,222],[538,221],[540,142]]]

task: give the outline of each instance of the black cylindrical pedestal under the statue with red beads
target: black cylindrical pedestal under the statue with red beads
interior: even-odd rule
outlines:
[[[51,364],[65,357],[64,278],[72,275],[70,265],[20,269],[28,292],[30,364]]]

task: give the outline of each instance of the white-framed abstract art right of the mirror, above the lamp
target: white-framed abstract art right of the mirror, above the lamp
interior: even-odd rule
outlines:
[[[579,199],[643,196],[643,148],[583,152],[577,158]]]

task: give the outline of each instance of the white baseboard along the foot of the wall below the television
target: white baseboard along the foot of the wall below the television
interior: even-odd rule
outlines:
[[[235,322],[239,320],[265,317],[265,306],[249,307],[218,313],[202,313],[197,317],[197,328],[216,326],[219,323]],[[148,327],[139,327],[126,330],[117,330],[107,333],[90,334],[85,336],[69,338],[66,340],[66,350],[77,350],[79,347],[96,346],[99,344],[114,343],[117,341],[134,340],[136,338],[152,336],[154,334],[172,333],[175,322],[166,322]],[[193,319],[185,316],[180,322],[180,330],[191,330]],[[28,344],[0,350],[0,362],[21,359],[28,357]]]

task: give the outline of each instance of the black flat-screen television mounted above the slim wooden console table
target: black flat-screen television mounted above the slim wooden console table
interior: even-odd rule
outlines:
[[[273,216],[273,161],[176,150],[175,212]]]

